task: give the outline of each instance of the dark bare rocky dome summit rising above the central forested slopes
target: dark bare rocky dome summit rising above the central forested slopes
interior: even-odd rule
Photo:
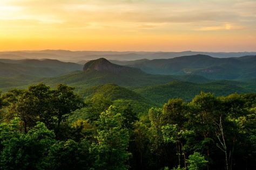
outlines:
[[[91,60],[85,63],[84,71],[87,71],[87,70],[97,70],[97,71],[104,71],[104,72],[111,72],[111,73],[134,72],[135,70],[141,72],[137,68],[131,68],[131,67],[113,64],[104,58]]]

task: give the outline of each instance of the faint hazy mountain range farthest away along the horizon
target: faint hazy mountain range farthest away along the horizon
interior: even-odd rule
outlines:
[[[231,58],[245,55],[256,55],[256,52],[116,52],[116,51],[68,51],[68,50],[42,50],[42,51],[6,51],[0,52],[0,59],[57,59],[85,63],[96,58],[107,60],[140,60],[140,59],[170,59],[185,55],[210,55],[215,58]]]

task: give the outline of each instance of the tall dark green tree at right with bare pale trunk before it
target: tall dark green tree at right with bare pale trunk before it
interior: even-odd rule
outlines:
[[[250,121],[246,115],[250,112],[245,106],[245,99],[238,94],[220,97],[220,100],[223,113],[219,116],[219,121],[214,122],[218,138],[216,144],[225,154],[225,168],[232,169],[233,154],[239,150],[238,145],[246,147],[244,144],[248,143],[246,139],[250,134],[246,132],[246,122]]]

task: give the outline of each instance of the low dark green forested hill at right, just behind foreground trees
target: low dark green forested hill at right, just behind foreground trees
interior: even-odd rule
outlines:
[[[192,83],[182,81],[172,81],[158,86],[135,88],[133,91],[149,98],[158,105],[163,105],[170,98],[182,98],[191,101],[200,91],[214,93],[217,96],[227,96],[232,93],[256,93],[254,83],[243,83],[237,81],[214,81],[208,83]]]

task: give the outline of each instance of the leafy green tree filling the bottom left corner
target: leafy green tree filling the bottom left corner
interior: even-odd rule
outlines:
[[[48,148],[55,143],[55,134],[43,123],[30,129],[28,133],[21,131],[21,121],[12,120],[9,124],[0,125],[2,145],[2,169],[40,169]]]

